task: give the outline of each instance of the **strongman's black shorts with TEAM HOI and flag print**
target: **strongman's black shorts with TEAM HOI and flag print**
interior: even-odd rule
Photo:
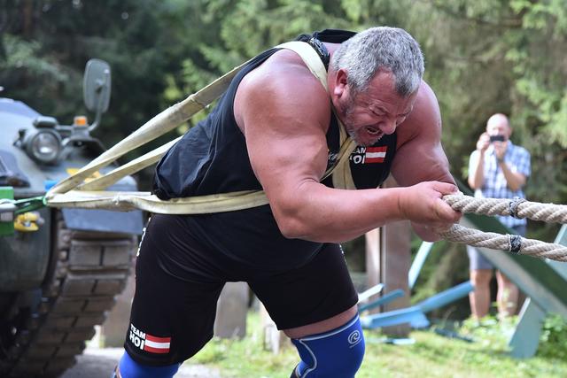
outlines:
[[[267,273],[204,248],[178,219],[153,215],[138,251],[124,346],[142,364],[170,365],[199,351],[213,337],[225,282],[248,282],[279,329],[328,319],[358,300],[338,244],[322,244],[303,266]]]

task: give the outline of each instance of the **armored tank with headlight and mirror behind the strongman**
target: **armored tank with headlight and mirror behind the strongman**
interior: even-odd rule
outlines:
[[[141,212],[57,210],[23,200],[41,198],[105,150],[91,132],[110,89],[108,64],[89,60],[83,96],[96,114],[90,125],[84,117],[59,125],[0,97],[1,377],[56,377],[73,366],[126,285]],[[109,189],[136,190],[136,181],[126,177]]]

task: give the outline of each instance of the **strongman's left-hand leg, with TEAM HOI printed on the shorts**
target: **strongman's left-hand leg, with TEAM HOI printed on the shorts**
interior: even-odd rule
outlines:
[[[224,282],[209,274],[214,251],[203,250],[187,229],[183,217],[167,215],[153,215],[146,227],[126,352],[117,369],[121,378],[170,378],[213,336]]]

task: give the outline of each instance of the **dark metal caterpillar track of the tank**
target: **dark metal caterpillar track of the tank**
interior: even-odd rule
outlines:
[[[54,218],[54,256],[41,299],[12,331],[1,377],[57,377],[74,366],[130,274],[136,236],[73,231],[60,212]]]

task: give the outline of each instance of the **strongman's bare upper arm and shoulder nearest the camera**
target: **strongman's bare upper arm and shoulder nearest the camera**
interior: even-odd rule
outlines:
[[[252,169],[270,200],[301,181],[318,181],[326,167],[329,99],[315,77],[303,71],[271,80],[252,76],[237,92]]]

